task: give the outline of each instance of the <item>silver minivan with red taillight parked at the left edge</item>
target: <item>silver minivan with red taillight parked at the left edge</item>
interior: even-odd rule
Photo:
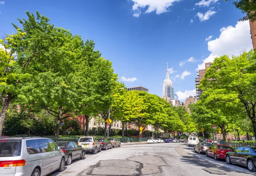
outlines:
[[[64,153],[52,139],[0,138],[1,176],[44,176],[64,166]]]

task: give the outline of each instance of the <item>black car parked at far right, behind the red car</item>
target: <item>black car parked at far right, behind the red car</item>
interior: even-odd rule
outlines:
[[[235,151],[226,153],[227,164],[239,164],[247,166],[248,170],[255,172],[256,148],[239,147]]]

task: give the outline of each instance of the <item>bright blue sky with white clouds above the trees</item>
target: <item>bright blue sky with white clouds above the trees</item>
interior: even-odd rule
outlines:
[[[168,62],[181,100],[195,95],[196,69],[204,62],[252,48],[249,22],[238,22],[243,14],[232,1],[0,0],[1,36],[27,10],[93,39],[126,87],[142,85],[162,96]]]

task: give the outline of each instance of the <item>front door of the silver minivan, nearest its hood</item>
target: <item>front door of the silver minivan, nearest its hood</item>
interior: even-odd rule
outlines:
[[[58,145],[55,144],[54,141],[52,141],[51,139],[47,139],[49,142],[49,146],[51,149],[51,155],[52,155],[52,171],[56,170],[60,167],[61,164],[61,151],[58,150]]]

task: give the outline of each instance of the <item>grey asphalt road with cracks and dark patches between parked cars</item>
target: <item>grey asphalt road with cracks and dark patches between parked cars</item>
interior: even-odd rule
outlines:
[[[246,167],[194,153],[181,143],[123,145],[74,160],[48,176],[251,176]]]

